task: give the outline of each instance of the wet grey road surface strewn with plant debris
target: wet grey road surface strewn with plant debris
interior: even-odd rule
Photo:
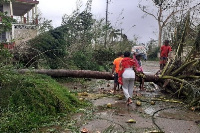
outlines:
[[[145,62],[144,71],[154,74],[159,70],[158,65],[158,62]],[[121,90],[112,94],[113,81],[92,79],[87,87],[80,85],[76,90],[78,96],[93,106],[72,117],[76,126],[80,131],[87,129],[88,133],[200,133],[197,123],[200,111],[191,111],[181,101],[172,100],[153,83],[145,83],[147,90],[142,92],[137,86],[138,83],[134,87],[133,103],[127,106]],[[140,106],[136,105],[137,101]],[[134,122],[130,123],[130,119]]]

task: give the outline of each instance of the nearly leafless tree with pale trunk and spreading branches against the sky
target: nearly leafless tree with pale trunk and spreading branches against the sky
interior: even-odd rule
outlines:
[[[148,6],[147,6],[148,5]],[[184,12],[191,9],[198,9],[198,0],[141,0],[139,8],[145,13],[154,17],[158,22],[158,46],[162,43],[164,27],[172,18],[180,19]],[[155,8],[156,7],[156,8]]]

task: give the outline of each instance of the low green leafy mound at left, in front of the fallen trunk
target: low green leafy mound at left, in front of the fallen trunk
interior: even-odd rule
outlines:
[[[0,132],[31,132],[86,105],[45,75],[7,68],[0,83]]]

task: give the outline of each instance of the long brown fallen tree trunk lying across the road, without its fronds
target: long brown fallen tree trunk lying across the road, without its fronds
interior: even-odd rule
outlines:
[[[19,73],[34,72],[39,74],[46,74],[52,77],[73,77],[73,78],[94,78],[113,80],[110,72],[90,71],[90,70],[66,70],[66,69],[20,69]],[[136,76],[136,81],[140,78]],[[159,79],[154,75],[146,75],[145,82],[158,82]]]

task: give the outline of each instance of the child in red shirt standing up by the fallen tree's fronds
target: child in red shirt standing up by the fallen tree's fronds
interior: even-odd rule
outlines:
[[[160,48],[160,70],[166,65],[170,51],[172,51],[172,48],[169,46],[169,40],[165,40],[164,45]]]

